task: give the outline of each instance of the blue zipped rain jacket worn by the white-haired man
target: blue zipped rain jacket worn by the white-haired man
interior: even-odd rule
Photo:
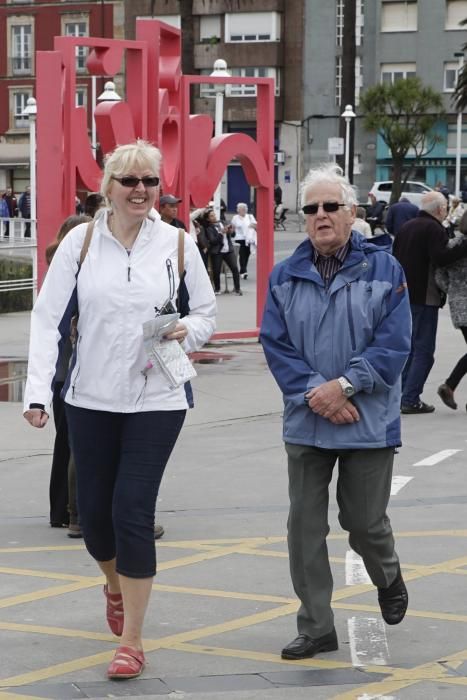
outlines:
[[[407,285],[397,260],[356,231],[328,289],[307,239],[276,265],[260,341],[284,397],[285,442],[328,449],[400,445],[400,374],[410,351]],[[334,425],[305,393],[345,375],[360,420]]]

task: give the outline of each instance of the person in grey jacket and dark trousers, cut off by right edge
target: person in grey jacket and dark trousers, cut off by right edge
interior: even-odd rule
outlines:
[[[451,238],[449,248],[455,249],[467,241],[467,212],[464,212],[459,224],[460,236]],[[451,321],[458,328],[467,343],[467,257],[463,257],[452,265],[438,268],[435,273],[436,284],[447,294]],[[467,354],[456,363],[449,377],[438,387],[441,401],[454,410],[457,403],[454,392],[460,381],[467,373]],[[467,406],[466,406],[467,409]]]

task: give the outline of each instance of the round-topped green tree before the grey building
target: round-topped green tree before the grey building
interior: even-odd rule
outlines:
[[[391,203],[397,202],[416,164],[442,141],[433,131],[443,114],[442,97],[420,78],[407,78],[369,88],[360,98],[359,110],[364,128],[376,131],[391,152]]]

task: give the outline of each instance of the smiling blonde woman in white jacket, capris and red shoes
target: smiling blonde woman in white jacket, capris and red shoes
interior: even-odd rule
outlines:
[[[135,678],[145,665],[157,494],[189,407],[182,383],[174,387],[162,367],[148,368],[143,324],[172,307],[177,290],[181,297],[183,277],[190,311],[166,340],[191,352],[215,328],[214,293],[195,243],[154,209],[160,162],[159,150],[141,140],[109,154],[107,207],[60,244],[31,317],[24,416],[42,428],[59,346],[79,313],[63,397],[84,542],[106,579],[108,625],[121,637],[109,678]]]

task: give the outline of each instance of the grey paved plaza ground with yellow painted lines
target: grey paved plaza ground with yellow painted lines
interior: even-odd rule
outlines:
[[[276,232],[276,257],[304,237]],[[255,322],[255,274],[244,296],[219,300],[219,330]],[[229,281],[228,281],[229,283]],[[229,283],[231,285],[231,283]],[[0,315],[0,394],[24,373],[29,314]],[[0,700],[466,700],[467,380],[458,411],[437,386],[464,352],[441,313],[430,415],[404,416],[390,516],[409,590],[396,627],[337,522],[329,553],[339,650],[285,661],[296,635],[288,571],[287,474],[281,396],[254,340],[217,342],[196,363],[196,407],[169,462],[159,500],[158,575],[140,679],[106,680],[116,647],[102,578],[82,541],[48,524],[52,421],[34,430],[0,401]],[[18,398],[21,380],[10,398]],[[16,392],[16,393],[15,393]]]

